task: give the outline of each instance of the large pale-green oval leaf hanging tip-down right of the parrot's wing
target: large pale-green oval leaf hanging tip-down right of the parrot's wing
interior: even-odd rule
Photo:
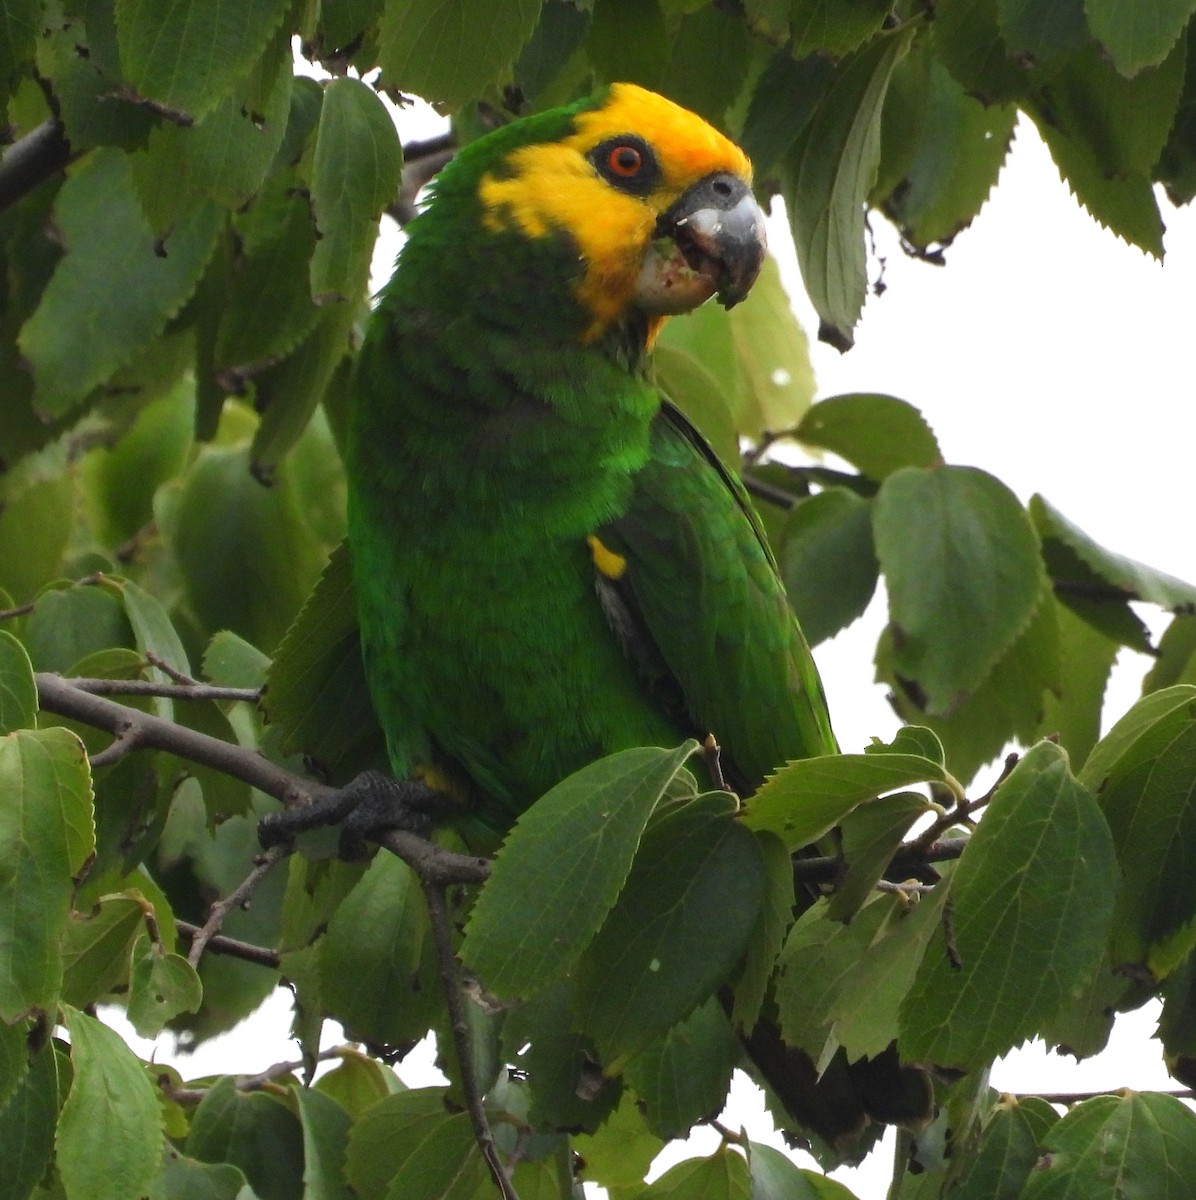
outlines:
[[[1017,498],[974,467],[895,472],[873,508],[900,676],[930,714],[974,691],[1039,606],[1038,538]]]

